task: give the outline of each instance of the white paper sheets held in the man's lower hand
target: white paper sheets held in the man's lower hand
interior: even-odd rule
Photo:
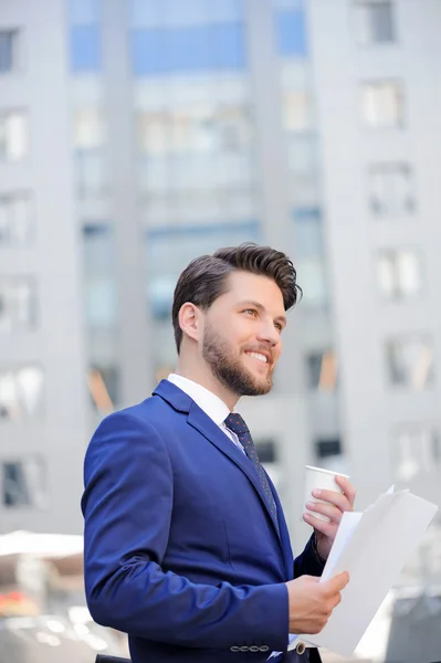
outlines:
[[[350,656],[438,511],[409,491],[392,488],[363,513],[345,513],[321,582],[348,571],[349,583],[323,631],[291,635],[300,643]]]

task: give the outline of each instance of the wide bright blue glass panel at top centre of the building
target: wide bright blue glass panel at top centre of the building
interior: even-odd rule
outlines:
[[[242,70],[246,62],[241,22],[134,30],[130,48],[137,76]]]

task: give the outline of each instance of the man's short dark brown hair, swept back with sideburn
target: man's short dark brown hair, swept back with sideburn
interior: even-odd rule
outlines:
[[[175,341],[179,354],[182,329],[179,311],[186,302],[207,309],[227,291],[227,277],[232,272],[251,272],[273,278],[283,295],[285,311],[292,308],[302,295],[296,283],[296,271],[291,260],[271,246],[259,246],[252,242],[239,246],[218,249],[212,255],[201,255],[190,262],[176,284],[171,319]]]

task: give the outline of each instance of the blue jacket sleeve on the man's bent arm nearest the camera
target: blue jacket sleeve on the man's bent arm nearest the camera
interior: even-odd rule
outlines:
[[[260,641],[286,650],[284,583],[214,587],[162,571],[174,480],[151,424],[127,412],[106,418],[88,446],[84,483],[85,586],[97,623],[185,646]]]

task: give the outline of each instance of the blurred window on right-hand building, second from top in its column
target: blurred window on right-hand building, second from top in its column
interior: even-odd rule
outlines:
[[[370,127],[400,127],[403,124],[403,91],[396,81],[363,85],[363,119]]]

